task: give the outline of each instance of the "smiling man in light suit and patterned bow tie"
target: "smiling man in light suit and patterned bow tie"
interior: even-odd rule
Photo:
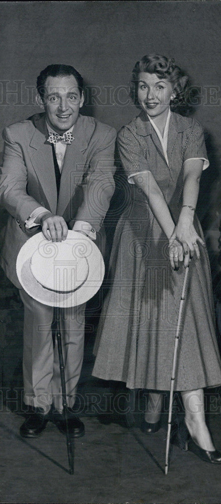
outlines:
[[[20,289],[25,307],[24,402],[34,410],[20,427],[24,437],[39,435],[52,418],[63,433],[66,427],[58,351],[52,342],[53,307],[22,289],[16,274],[19,250],[39,231],[49,241],[65,240],[68,228],[102,242],[102,223],[114,193],[116,132],[80,115],[83,101],[80,74],[71,66],[50,65],[37,79],[37,103],[44,112],[12,124],[3,133],[0,201],[9,218],[1,264]],[[84,309],[85,305],[65,308],[61,317],[73,437],[84,434],[83,423],[72,412],[83,359]]]

